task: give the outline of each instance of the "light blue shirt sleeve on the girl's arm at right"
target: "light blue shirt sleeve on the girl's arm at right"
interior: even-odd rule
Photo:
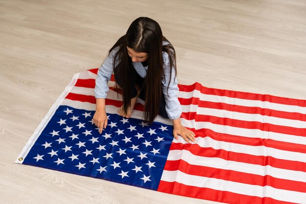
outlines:
[[[182,113],[182,108],[177,98],[177,93],[178,93],[177,78],[175,77],[175,68],[170,68],[170,59],[166,52],[163,52],[163,59],[164,59],[165,76],[162,79],[162,90],[165,95],[166,112],[169,118],[174,120],[179,118]],[[170,78],[171,69],[172,73]],[[168,84],[169,84],[169,89],[168,89]]]

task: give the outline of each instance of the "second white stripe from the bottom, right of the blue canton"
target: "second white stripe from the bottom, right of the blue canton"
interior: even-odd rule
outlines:
[[[269,165],[249,164],[221,158],[201,157],[188,150],[170,150],[167,160],[182,159],[192,165],[207,166],[218,169],[233,170],[260,176],[270,175],[274,178],[306,182],[306,172],[275,168]]]

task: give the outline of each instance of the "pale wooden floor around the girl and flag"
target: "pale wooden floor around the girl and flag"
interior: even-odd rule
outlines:
[[[306,99],[306,0],[0,0],[0,204],[212,204],[13,163],[139,16],[175,46],[181,84]]]

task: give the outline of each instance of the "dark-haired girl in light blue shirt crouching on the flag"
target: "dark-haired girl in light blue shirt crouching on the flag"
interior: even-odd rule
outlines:
[[[175,49],[162,35],[157,22],[147,17],[133,21],[127,33],[109,50],[96,78],[96,112],[94,124],[99,133],[106,128],[108,118],[105,98],[108,81],[114,73],[115,82],[123,91],[123,105],[118,113],[131,117],[137,97],[145,101],[144,119],[152,123],[157,114],[173,121],[173,135],[187,142],[195,141],[195,134],[182,126],[182,113],[177,98]]]

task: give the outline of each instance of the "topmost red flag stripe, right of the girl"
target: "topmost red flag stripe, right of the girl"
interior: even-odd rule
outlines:
[[[241,91],[212,89],[212,88],[203,87],[199,83],[195,83],[189,86],[178,85],[178,87],[179,87],[179,91],[191,92],[191,91],[197,90],[203,94],[209,94],[209,95],[227,96],[227,97],[241,98],[241,99],[247,99],[247,100],[268,101],[271,103],[279,103],[279,104],[285,104],[285,105],[306,107],[306,100],[278,97],[278,96],[272,96],[268,94],[257,94],[257,93],[241,92]]]

